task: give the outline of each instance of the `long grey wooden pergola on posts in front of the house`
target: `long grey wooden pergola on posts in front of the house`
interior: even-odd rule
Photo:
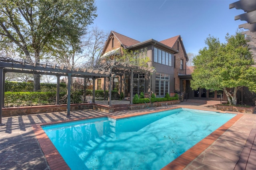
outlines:
[[[97,78],[109,78],[109,89],[112,89],[112,78],[116,75],[122,76],[124,74],[130,74],[130,104],[132,104],[132,89],[133,89],[133,74],[144,72],[153,72],[151,68],[139,67],[131,64],[125,64],[120,62],[112,62],[111,68],[106,70],[99,69],[87,69],[87,68],[70,68],[65,65],[57,66],[49,65],[47,63],[29,63],[26,60],[16,61],[10,58],[0,58],[0,125],[2,125],[2,107],[4,107],[4,86],[5,86],[5,73],[6,72],[17,72],[17,73],[27,73],[27,74],[45,74],[54,75],[57,77],[57,93],[56,93],[56,104],[59,104],[59,88],[60,88],[60,76],[68,77],[68,94],[67,94],[67,117],[70,117],[70,94],[71,94],[71,77],[80,78],[92,78],[93,80],[93,100],[95,103],[95,80]],[[85,82],[85,81],[84,81]],[[151,82],[151,81],[150,81]],[[150,84],[151,88],[151,84]],[[151,90],[150,90],[151,91]],[[104,94],[106,92],[106,83],[104,83]],[[109,90],[109,106],[111,104],[111,90]]]

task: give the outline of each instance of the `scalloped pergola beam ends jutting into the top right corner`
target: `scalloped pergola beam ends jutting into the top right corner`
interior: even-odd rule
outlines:
[[[244,10],[244,14],[235,16],[235,20],[247,21],[247,23],[241,24],[238,27],[249,29],[249,31],[242,32],[246,34],[246,39],[249,40],[247,43],[249,45],[249,51],[256,61],[256,0],[239,0],[232,4],[229,4],[229,9],[236,8],[239,10]]]

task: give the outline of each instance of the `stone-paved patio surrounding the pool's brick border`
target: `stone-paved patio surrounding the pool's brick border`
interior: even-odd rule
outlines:
[[[149,109],[140,109],[135,111],[116,111],[111,113],[111,115],[118,117],[136,115],[142,112],[158,111],[161,109],[172,108],[174,106],[215,111],[210,104],[182,102],[181,104],[172,106],[151,107]],[[50,170],[50,163],[46,161],[46,156],[40,148],[38,140],[36,139],[35,133],[32,129],[32,125],[66,119],[104,116],[109,114],[110,113],[103,113],[96,110],[80,110],[71,111],[70,115],[72,117],[66,117],[65,112],[3,117],[2,123],[5,125],[0,126],[0,169]],[[196,156],[192,162],[188,163],[184,169],[233,170],[235,167],[241,170],[245,169],[240,166],[240,164],[236,164],[238,160],[241,161],[244,158],[246,160],[248,159],[248,154],[244,154],[244,151],[243,154],[241,153],[250,132],[255,128],[256,114],[241,114],[240,119],[234,122],[234,124],[231,125],[231,127],[220,137],[218,137],[216,141]],[[253,151],[250,152],[253,153]],[[249,159],[247,169],[250,169],[250,162],[251,161]],[[61,169],[61,167],[56,166],[56,169]],[[168,167],[166,166],[163,169],[168,169]],[[182,168],[177,166],[176,169]]]

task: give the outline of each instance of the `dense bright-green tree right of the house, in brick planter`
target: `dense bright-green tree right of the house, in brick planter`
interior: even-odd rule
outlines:
[[[194,58],[194,72],[191,87],[193,90],[206,88],[223,90],[230,104],[236,105],[237,91],[247,86],[256,92],[256,68],[244,35],[226,36],[226,44],[212,36],[206,38],[204,49]]]

